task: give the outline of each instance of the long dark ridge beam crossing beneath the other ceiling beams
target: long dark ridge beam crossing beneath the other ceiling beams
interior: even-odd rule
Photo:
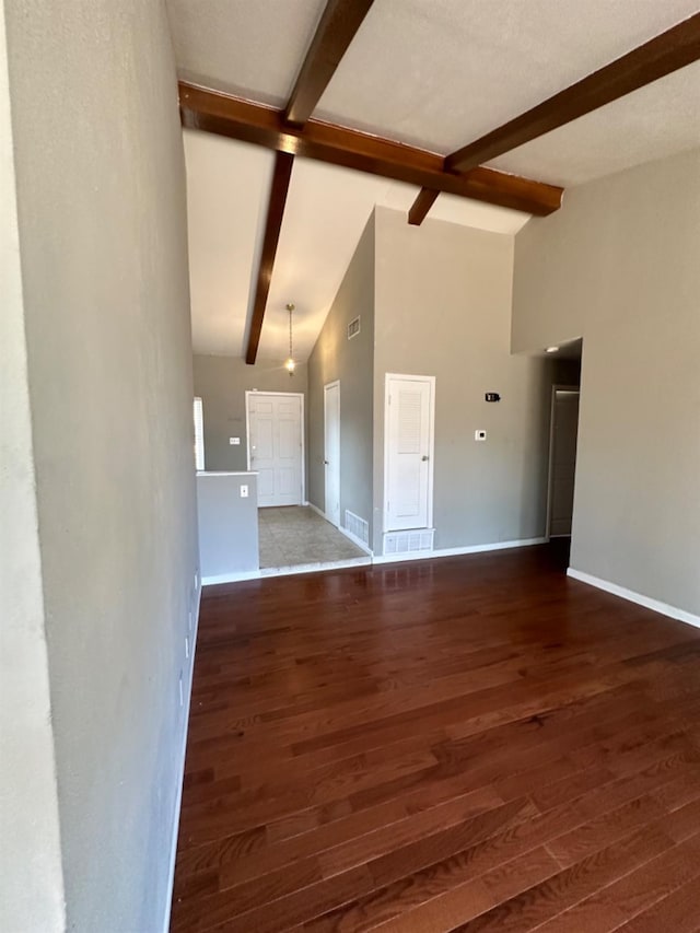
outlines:
[[[303,128],[291,127],[279,110],[185,82],[179,84],[179,101],[183,126],[188,129],[539,217],[561,206],[563,189],[555,185],[492,168],[476,168],[468,175],[446,172],[442,156],[422,149],[319,120],[308,120]]]

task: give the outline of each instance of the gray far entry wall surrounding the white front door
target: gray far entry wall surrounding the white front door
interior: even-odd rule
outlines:
[[[205,418],[205,467],[207,470],[247,469],[245,394],[301,392],[306,408],[306,364],[294,375],[281,360],[258,360],[249,366],[238,357],[195,355],[195,395],[201,397]],[[240,446],[229,438],[241,438]]]

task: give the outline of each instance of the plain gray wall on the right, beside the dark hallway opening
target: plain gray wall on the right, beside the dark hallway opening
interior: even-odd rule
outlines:
[[[571,565],[700,615],[700,151],[516,236],[513,348],[582,336]]]

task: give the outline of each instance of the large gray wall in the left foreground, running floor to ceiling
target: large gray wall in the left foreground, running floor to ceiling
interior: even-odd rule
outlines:
[[[160,0],[5,8],[67,924],[150,933],[168,902],[197,564],[174,61]]]

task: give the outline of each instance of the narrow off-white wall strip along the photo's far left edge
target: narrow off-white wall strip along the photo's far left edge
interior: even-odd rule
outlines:
[[[0,930],[63,929],[14,162],[0,2]]]

